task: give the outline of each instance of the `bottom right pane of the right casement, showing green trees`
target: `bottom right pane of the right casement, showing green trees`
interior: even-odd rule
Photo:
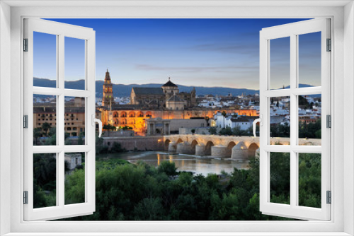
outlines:
[[[299,206],[321,208],[319,153],[299,153]]]

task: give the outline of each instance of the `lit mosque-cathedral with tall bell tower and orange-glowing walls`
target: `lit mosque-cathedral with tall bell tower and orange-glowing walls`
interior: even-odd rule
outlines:
[[[159,88],[132,88],[130,104],[114,102],[113,85],[108,70],[103,83],[101,111],[103,124],[113,126],[130,126],[137,134],[147,132],[146,119],[209,119],[218,111],[256,116],[256,110],[239,110],[236,107],[198,107],[196,91],[190,93],[179,91],[176,84],[169,81]]]

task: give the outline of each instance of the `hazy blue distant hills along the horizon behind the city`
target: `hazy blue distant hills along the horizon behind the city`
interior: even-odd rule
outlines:
[[[103,82],[104,81],[96,81],[96,97],[102,97],[103,95]],[[47,78],[33,78],[33,84],[36,86],[41,87],[55,87],[55,81],[49,80]],[[156,88],[161,87],[161,83],[147,83],[144,85],[139,84],[115,84],[113,83],[113,96],[115,97],[130,97],[130,93],[133,87],[147,87],[147,88]],[[300,84],[299,87],[311,87],[312,85]],[[194,86],[185,86],[185,85],[178,85],[180,92],[190,92]],[[84,80],[79,81],[67,81],[65,82],[65,88],[71,89],[82,89],[84,88]],[[285,87],[289,88],[289,86]],[[202,86],[195,86],[195,90],[197,95],[219,95],[219,96],[226,96],[229,93],[232,95],[237,96],[241,95],[253,95],[255,93],[259,93],[259,90],[252,90],[247,88],[224,88],[224,87],[202,87]]]

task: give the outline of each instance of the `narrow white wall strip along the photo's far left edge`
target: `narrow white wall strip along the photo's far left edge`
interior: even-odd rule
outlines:
[[[10,49],[11,49],[11,8],[0,2],[0,235],[10,232],[10,179],[11,121],[10,106]]]

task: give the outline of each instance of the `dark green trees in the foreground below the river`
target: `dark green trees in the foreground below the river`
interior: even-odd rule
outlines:
[[[271,199],[289,203],[290,155],[271,156]],[[251,158],[249,170],[237,170],[221,179],[217,175],[193,176],[177,172],[173,163],[158,168],[147,163],[96,159],[96,212],[65,220],[291,220],[259,211],[259,159]],[[36,184],[36,186],[38,186]],[[38,204],[48,196],[37,191]],[[67,175],[65,203],[84,201],[84,170]],[[299,157],[299,203],[319,207],[321,155]],[[37,195],[36,195],[37,197]]]

